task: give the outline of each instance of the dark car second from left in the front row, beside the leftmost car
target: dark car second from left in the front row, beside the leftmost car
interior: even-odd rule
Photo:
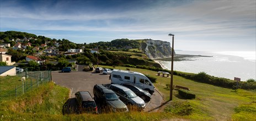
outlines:
[[[119,97],[112,90],[107,89],[103,85],[94,85],[93,87],[94,99],[98,103],[102,103],[106,110],[113,112],[128,112],[129,109],[122,102]]]

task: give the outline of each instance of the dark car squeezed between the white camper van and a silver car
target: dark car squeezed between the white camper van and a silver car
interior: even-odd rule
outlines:
[[[151,95],[148,91],[145,91],[141,89],[140,87],[134,86],[130,83],[124,83],[123,86],[128,87],[130,90],[132,90],[137,96],[141,97],[144,101],[150,101]]]

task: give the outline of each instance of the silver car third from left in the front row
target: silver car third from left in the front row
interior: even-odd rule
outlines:
[[[138,109],[145,109],[145,101],[143,101],[142,98],[138,97],[129,88],[119,84],[111,84],[109,86],[109,89],[113,90],[116,93],[116,95],[119,96],[120,100],[124,102],[126,105],[134,105],[137,106]]]

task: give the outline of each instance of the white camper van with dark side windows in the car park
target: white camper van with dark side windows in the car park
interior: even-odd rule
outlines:
[[[130,83],[134,86],[141,87],[141,89],[150,92],[150,94],[154,92],[154,85],[151,83],[150,79],[138,72],[114,69],[110,79],[111,84]]]

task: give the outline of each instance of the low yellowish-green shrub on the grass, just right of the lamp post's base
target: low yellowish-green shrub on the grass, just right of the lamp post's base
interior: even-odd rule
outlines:
[[[189,101],[173,101],[170,102],[164,112],[178,114],[180,116],[188,116],[193,112],[193,108],[190,105]]]

